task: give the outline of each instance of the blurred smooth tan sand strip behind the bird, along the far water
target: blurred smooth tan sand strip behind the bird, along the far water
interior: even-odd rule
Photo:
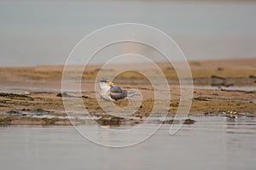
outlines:
[[[183,65],[183,63],[177,63]],[[155,72],[147,67],[147,64],[132,64],[131,66],[144,68],[144,71],[154,75]],[[177,84],[177,72],[170,63],[156,63],[166,76],[169,83]],[[195,84],[204,84],[212,86],[234,86],[234,85],[253,85],[256,82],[256,59],[229,59],[212,61],[190,61],[189,66]],[[83,65],[81,65],[83,66]],[[81,67],[80,66],[80,67]],[[77,70],[78,66],[73,66],[68,77],[80,77]],[[97,74],[101,71],[102,65],[86,66],[82,74],[82,82],[94,82]],[[119,69],[122,65],[113,65],[113,68]],[[44,86],[61,88],[61,77],[63,65],[44,65],[36,67],[19,68],[0,68],[0,82],[3,85],[26,85],[26,86]],[[106,75],[116,75],[112,69],[104,70]],[[148,83],[147,78],[134,71],[125,71],[116,78],[119,82],[128,82],[129,84]]]

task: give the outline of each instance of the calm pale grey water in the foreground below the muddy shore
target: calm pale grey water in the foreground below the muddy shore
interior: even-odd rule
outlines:
[[[94,144],[73,127],[1,127],[1,169],[254,169],[256,118],[190,118],[197,122],[173,136],[163,125],[143,143],[122,149]],[[99,127],[87,128],[101,134]],[[111,135],[105,139],[122,142]]]

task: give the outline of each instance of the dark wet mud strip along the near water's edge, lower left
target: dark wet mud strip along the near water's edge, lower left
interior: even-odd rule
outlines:
[[[21,125],[28,125],[28,126],[81,126],[84,124],[96,124],[99,126],[109,126],[109,127],[119,127],[119,126],[135,126],[139,125],[145,122],[142,118],[137,118],[134,116],[133,118],[129,117],[121,117],[121,116],[98,116],[97,119],[94,119],[93,117],[88,117],[88,119],[79,119],[79,117],[76,118],[70,118],[67,116],[58,117],[58,116],[52,116],[49,117],[37,117],[37,116],[0,116],[0,127],[7,127],[7,126],[21,126]],[[179,121],[174,120],[151,120],[147,121],[149,124],[175,124],[183,122],[184,124],[194,124],[195,120],[193,119],[184,119]]]

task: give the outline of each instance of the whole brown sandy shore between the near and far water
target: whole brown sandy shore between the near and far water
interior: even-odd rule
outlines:
[[[166,109],[168,116],[174,116],[180,99],[177,75],[172,65],[158,65],[170,80],[172,99]],[[193,61],[189,65],[195,85],[189,114],[256,116],[256,59]],[[108,113],[102,116],[104,111],[96,100],[94,83],[100,66],[86,67],[83,74],[81,86],[87,110],[91,115],[100,117],[98,122],[103,125],[140,123],[138,120],[147,117],[154,105],[154,90],[150,83],[134,72],[125,72],[116,77],[114,82],[122,88],[140,90],[143,95],[142,105],[129,120],[108,116]],[[60,97],[62,69],[61,65],[0,68],[0,125],[69,125]],[[65,96],[77,97],[77,94],[71,92]],[[127,99],[116,101],[115,105],[124,107]]]

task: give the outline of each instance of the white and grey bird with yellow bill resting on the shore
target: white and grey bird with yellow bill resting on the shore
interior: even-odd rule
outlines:
[[[107,79],[102,79],[99,82],[99,94],[102,99],[116,101],[119,99],[125,99],[126,97],[131,97],[136,94],[136,92],[127,92],[118,85],[115,85],[113,82],[110,82]]]

